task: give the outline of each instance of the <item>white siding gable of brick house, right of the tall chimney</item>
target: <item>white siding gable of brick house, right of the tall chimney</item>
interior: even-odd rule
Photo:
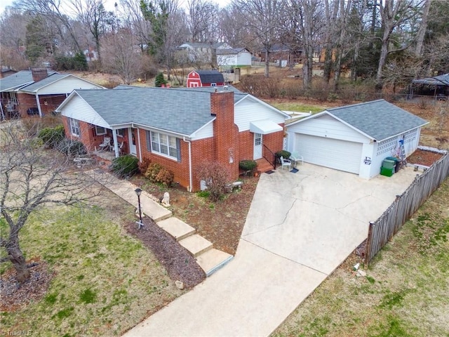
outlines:
[[[249,130],[251,121],[260,121],[262,119],[269,119],[276,124],[285,123],[286,121],[283,115],[248,98],[235,106],[234,123],[239,127],[239,132]]]

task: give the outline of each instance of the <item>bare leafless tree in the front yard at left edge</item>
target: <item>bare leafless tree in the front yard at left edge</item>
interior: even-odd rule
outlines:
[[[70,161],[29,137],[21,124],[0,128],[0,210],[9,231],[1,232],[0,248],[6,251],[1,262],[11,262],[18,282],[29,278],[19,233],[29,216],[46,204],[74,206],[98,195],[91,178],[69,171]]]

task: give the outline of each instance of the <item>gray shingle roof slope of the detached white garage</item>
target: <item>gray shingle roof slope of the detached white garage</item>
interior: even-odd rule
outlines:
[[[386,100],[334,107],[327,109],[330,115],[380,141],[413,128],[427,124],[427,121],[396,107]]]

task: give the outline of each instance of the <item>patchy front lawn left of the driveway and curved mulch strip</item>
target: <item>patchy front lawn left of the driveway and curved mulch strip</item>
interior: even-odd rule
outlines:
[[[46,261],[54,277],[41,300],[1,312],[0,334],[120,336],[183,293],[122,229],[135,220],[133,207],[107,198],[105,209],[53,206],[29,219],[20,232],[22,249],[27,258]],[[3,219],[0,225],[6,230]]]

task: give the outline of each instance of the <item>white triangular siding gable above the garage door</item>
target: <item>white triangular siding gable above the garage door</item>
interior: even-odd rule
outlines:
[[[311,136],[348,140],[356,143],[369,143],[368,138],[341,121],[322,114],[320,117],[287,126],[288,132],[303,133]]]

